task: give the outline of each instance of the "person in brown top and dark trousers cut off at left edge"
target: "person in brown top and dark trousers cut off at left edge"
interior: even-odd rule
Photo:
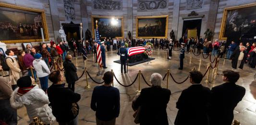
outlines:
[[[2,66],[0,66],[2,70]],[[13,109],[10,103],[12,86],[4,77],[0,76],[0,123],[17,125],[17,110]]]

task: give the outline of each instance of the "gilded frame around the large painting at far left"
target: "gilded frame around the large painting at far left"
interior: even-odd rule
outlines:
[[[45,11],[44,10],[26,8],[26,7],[17,6],[17,5],[13,5],[13,4],[7,4],[7,3],[3,3],[3,2],[0,2],[0,8],[1,7],[15,9],[15,10],[21,10],[21,11],[30,11],[30,12],[40,13],[40,15],[41,15],[41,22],[40,23],[42,23],[41,26],[42,26],[43,32],[44,32],[44,39],[45,39],[45,41],[49,41],[49,33],[48,33],[47,24],[46,24],[46,17],[45,17]],[[19,39],[19,40],[0,40],[0,41],[3,42],[3,43],[10,44],[10,43],[41,42],[43,40],[42,39]]]

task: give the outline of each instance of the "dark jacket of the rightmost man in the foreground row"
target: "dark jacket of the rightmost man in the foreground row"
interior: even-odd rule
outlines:
[[[245,89],[235,83],[227,82],[213,87],[210,125],[231,125],[233,110],[245,94]]]

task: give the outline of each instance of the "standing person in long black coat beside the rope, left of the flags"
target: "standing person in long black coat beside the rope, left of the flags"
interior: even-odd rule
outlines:
[[[63,67],[65,69],[65,77],[66,81],[68,83],[68,88],[70,88],[72,91],[74,91],[74,83],[78,80],[77,74],[76,74],[76,67],[71,62],[72,56],[68,55],[63,62]]]

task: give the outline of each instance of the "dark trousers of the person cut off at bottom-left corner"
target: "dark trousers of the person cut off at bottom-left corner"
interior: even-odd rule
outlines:
[[[17,110],[11,107],[10,99],[0,100],[0,120],[8,125],[17,125]]]

